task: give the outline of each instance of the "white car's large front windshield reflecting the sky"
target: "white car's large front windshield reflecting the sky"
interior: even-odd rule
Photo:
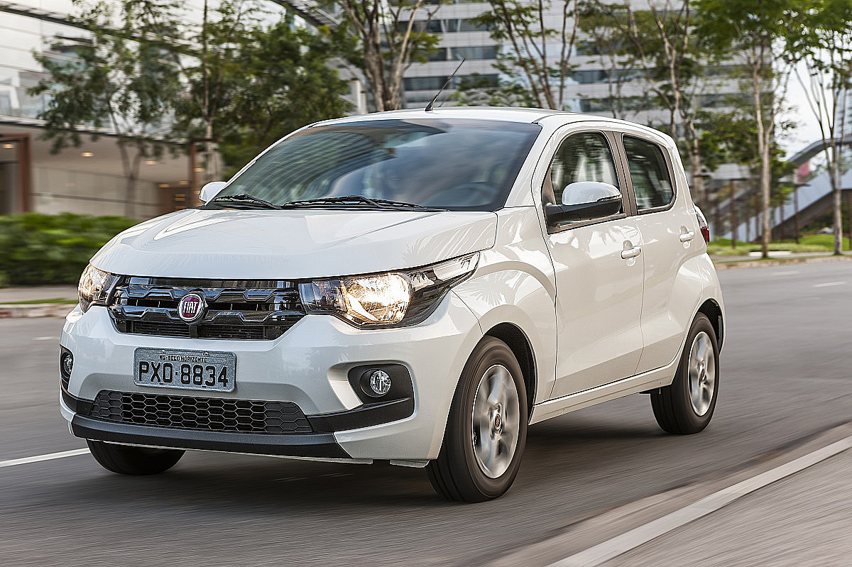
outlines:
[[[540,131],[538,124],[476,119],[317,126],[279,141],[216,197],[250,195],[282,205],[360,196],[497,210]]]

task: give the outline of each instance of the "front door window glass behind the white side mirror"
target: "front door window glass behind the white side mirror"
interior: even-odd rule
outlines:
[[[561,204],[565,187],[577,181],[602,181],[619,188],[613,152],[600,132],[583,132],[562,140],[544,178],[544,204]]]

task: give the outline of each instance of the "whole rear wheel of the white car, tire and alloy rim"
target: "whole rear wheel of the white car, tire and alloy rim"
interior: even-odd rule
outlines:
[[[699,313],[689,328],[675,380],[671,386],[651,393],[653,416],[666,432],[679,435],[698,433],[710,423],[718,395],[719,345],[716,331],[710,319]]]

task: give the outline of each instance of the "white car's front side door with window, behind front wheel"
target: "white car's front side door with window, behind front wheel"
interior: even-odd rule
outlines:
[[[556,384],[551,398],[636,374],[642,355],[641,236],[625,196],[610,139],[569,135],[545,175],[544,203],[561,203],[565,187],[602,181],[619,188],[622,211],[594,221],[551,227],[546,235],[556,271]]]

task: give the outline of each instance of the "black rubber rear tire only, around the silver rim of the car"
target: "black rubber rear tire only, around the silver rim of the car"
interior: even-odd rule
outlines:
[[[715,382],[711,393],[709,408],[703,415],[699,415],[690,401],[689,390],[689,353],[692,350],[695,337],[699,333],[706,333],[710,337],[712,345],[712,356],[715,364]],[[651,407],[653,416],[657,419],[659,427],[665,432],[679,435],[691,435],[698,433],[707,427],[716,409],[716,400],[719,396],[719,345],[716,331],[710,324],[704,313],[695,316],[692,326],[689,328],[687,341],[683,346],[681,361],[677,366],[675,380],[671,386],[658,388],[651,392]]]

